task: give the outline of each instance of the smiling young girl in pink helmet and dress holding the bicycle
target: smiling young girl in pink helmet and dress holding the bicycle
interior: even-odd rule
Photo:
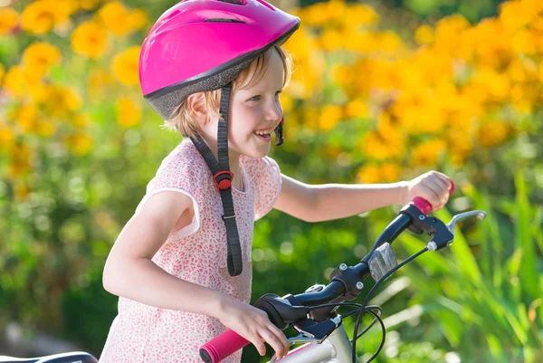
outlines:
[[[103,283],[119,295],[119,315],[100,362],[201,362],[199,348],[226,329],[261,355],[267,342],[281,358],[285,336],[249,304],[256,219],[271,208],[319,222],[415,196],[434,209],[446,203],[451,183],[437,172],[371,186],[310,186],[281,175],[266,155],[271,131],[282,142],[279,94],[291,75],[280,45],[299,24],[263,0],[187,0],[151,29],[140,54],[142,91],[186,139],[111,249]]]

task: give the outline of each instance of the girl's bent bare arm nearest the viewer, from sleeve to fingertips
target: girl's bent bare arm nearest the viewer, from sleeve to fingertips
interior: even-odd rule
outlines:
[[[262,356],[264,341],[279,357],[284,356],[289,351],[287,339],[264,311],[226,293],[178,279],[151,260],[173,228],[190,224],[191,207],[192,199],[182,193],[165,191],[151,196],[113,245],[104,267],[104,288],[158,308],[214,317],[251,341]]]

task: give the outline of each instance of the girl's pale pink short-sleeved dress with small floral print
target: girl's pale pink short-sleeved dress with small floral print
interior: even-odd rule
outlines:
[[[271,158],[244,156],[240,158],[240,173],[244,191],[233,189],[243,255],[240,276],[231,277],[228,273],[221,196],[204,158],[190,139],[183,140],[164,159],[136,213],[149,196],[163,191],[190,196],[195,209],[192,223],[170,234],[153,261],[180,279],[249,302],[253,224],[275,204],[281,190],[281,173]],[[119,315],[111,325],[100,363],[200,363],[200,347],[224,330],[219,320],[205,315],[158,309],[119,298]],[[224,362],[239,362],[241,356],[239,351]]]

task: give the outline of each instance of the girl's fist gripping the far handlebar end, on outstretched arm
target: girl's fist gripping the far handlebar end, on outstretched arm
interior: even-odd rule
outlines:
[[[420,196],[432,205],[433,210],[441,209],[449,200],[451,186],[449,177],[434,170],[429,171],[420,177],[404,182],[401,203],[406,205],[416,196]]]

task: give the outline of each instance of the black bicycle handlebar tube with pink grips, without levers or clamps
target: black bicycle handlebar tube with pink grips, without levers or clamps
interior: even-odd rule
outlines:
[[[451,181],[451,189],[449,189],[449,195],[454,191],[454,183]],[[432,212],[432,205],[421,197],[415,197],[409,205],[414,205],[424,215],[429,215]],[[372,248],[375,251],[379,244],[384,242],[392,243],[398,234],[403,232],[407,225],[410,223],[410,218],[406,215],[399,215],[395,221],[386,227],[386,230],[379,236]],[[368,255],[371,254],[368,253]],[[362,260],[354,267],[355,271],[360,276],[366,277],[369,273],[369,266],[367,261]],[[296,295],[298,301],[306,306],[316,306],[323,303],[327,303],[345,294],[345,286],[338,281],[330,282],[322,291],[302,293]],[[205,363],[218,363],[224,358],[233,354],[233,352],[242,349],[250,343],[249,340],[244,339],[233,330],[226,330],[224,333],[215,337],[214,339],[205,343],[200,348],[200,357]]]

